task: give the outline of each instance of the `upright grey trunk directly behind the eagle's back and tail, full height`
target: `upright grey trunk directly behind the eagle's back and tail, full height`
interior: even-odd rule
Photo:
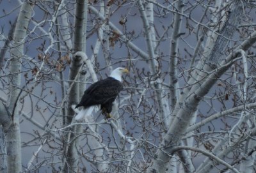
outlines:
[[[76,13],[75,13],[75,22],[74,22],[74,44],[73,44],[73,50],[76,53],[77,51],[84,50],[84,24],[86,24],[86,16],[87,16],[87,3],[88,1],[79,0],[76,3]],[[81,69],[81,57],[74,56],[72,57],[72,62],[70,64],[70,73],[69,73],[69,79],[74,80],[78,79],[77,76],[79,76],[79,70]],[[67,124],[72,123],[72,119],[74,116],[74,111],[72,109],[72,105],[77,104],[79,102],[79,83],[74,82],[70,85],[70,93],[68,95],[68,109],[67,109]],[[65,150],[67,153],[65,153],[65,156],[67,157],[67,160],[64,160],[65,162],[63,170],[64,172],[77,172],[78,170],[78,151],[79,148],[79,137],[76,136],[76,134],[79,134],[82,132],[81,126],[74,126],[70,130],[70,135],[67,134],[67,139],[70,137],[70,144],[65,146]]]

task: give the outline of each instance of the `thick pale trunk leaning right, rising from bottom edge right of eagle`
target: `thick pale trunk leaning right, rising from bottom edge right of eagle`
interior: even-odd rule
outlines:
[[[218,77],[220,77],[233,62],[223,64],[218,71],[214,71],[209,75],[207,80],[194,93],[191,93],[184,101],[182,109],[177,113],[177,118],[173,119],[172,126],[164,136],[161,142],[160,149],[157,150],[157,160],[153,162],[152,170],[158,172],[165,172],[166,162],[169,160],[168,154],[173,154],[172,147],[177,146],[181,137],[186,133],[191,122],[191,115],[196,111],[196,107],[200,102],[200,98],[208,93],[209,89],[214,85]],[[167,154],[168,153],[168,154]]]

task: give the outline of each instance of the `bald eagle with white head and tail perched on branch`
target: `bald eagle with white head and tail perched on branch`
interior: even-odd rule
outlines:
[[[84,91],[81,102],[76,105],[76,108],[83,107],[75,119],[77,121],[83,119],[90,114],[92,114],[95,106],[100,105],[100,110],[106,118],[111,117],[110,113],[112,111],[113,102],[116,96],[122,90],[122,74],[128,73],[126,68],[116,68],[113,70],[109,77],[103,80],[99,80],[92,84]]]

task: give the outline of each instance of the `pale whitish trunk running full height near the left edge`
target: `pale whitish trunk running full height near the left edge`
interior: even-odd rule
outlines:
[[[24,52],[24,40],[31,19],[33,4],[25,1],[20,8],[19,17],[13,35],[12,57],[10,60],[10,103],[12,124],[6,130],[6,146],[8,158],[8,172],[21,171],[21,147],[20,147],[20,128],[19,128],[19,95],[21,83],[21,62]]]

